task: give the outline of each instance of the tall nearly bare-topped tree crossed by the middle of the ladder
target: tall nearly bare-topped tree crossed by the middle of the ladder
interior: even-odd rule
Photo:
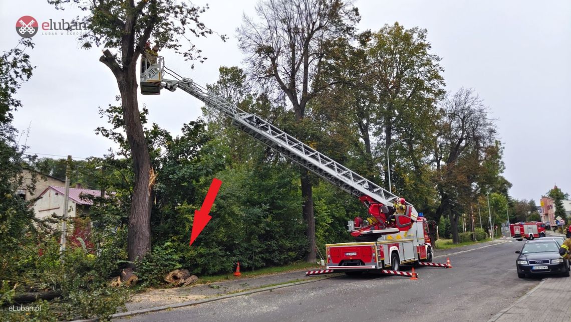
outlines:
[[[321,61],[330,43],[354,32],[358,11],[340,0],[266,0],[256,6],[256,14],[260,22],[244,17],[238,29],[248,72],[256,81],[287,97],[300,125],[308,102],[327,88],[313,84],[319,84]],[[305,140],[301,129],[304,128],[299,126],[297,137]],[[316,252],[312,182],[307,170],[301,169],[300,176],[307,261],[313,262]]]

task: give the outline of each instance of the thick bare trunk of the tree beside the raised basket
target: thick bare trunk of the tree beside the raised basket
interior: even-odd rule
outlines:
[[[131,148],[135,173],[127,235],[127,252],[130,261],[142,259],[151,249],[151,188],[152,181],[154,181],[151,178],[151,176],[154,177],[154,173],[151,169],[147,140],[139,115],[135,68],[136,64],[127,66],[122,77],[117,79],[125,132]]]

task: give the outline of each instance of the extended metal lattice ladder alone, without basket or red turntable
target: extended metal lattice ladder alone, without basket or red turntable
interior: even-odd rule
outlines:
[[[211,108],[226,114],[232,118],[232,125],[356,197],[369,196],[373,201],[388,206],[392,206],[393,201],[397,198],[395,194],[333,161],[266,120],[255,114],[244,112],[224,98],[195,84],[190,78],[181,80],[162,79],[162,85],[171,92],[182,89]],[[412,212],[416,218],[417,212],[414,208],[412,208]]]

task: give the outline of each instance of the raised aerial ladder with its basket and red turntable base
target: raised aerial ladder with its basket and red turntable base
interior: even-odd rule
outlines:
[[[190,78],[184,78],[164,67],[163,57],[156,57],[153,63],[142,58],[141,93],[144,95],[160,94],[161,89],[171,92],[183,90],[204,102],[210,108],[231,118],[232,125],[250,134],[256,140],[278,151],[289,160],[317,174],[337,188],[343,189],[359,198],[368,208],[372,216],[371,222],[355,226],[355,221],[348,222],[348,231],[357,241],[373,241],[383,234],[406,233],[419,214],[412,204],[405,202],[405,212],[395,214],[395,224],[389,225],[387,217],[395,213],[395,202],[400,197],[375,184],[372,181],[325,156],[316,149],[297,140],[280,130],[270,122],[256,114],[245,112],[210,90],[196,84]],[[166,71],[165,71],[166,70]],[[165,79],[168,73],[175,79]]]

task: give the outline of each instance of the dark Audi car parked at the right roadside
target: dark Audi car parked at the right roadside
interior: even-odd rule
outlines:
[[[517,277],[560,274],[569,276],[569,261],[559,255],[559,245],[552,239],[529,240],[516,251]]]

